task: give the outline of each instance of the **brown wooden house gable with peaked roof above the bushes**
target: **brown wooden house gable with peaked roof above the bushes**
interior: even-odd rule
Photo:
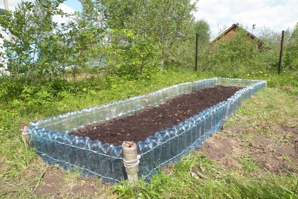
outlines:
[[[241,28],[243,29],[242,27],[239,26],[239,24],[233,24],[231,27],[229,27],[228,29],[226,29],[221,35],[219,35],[217,38],[215,38],[213,41],[211,41],[209,44],[212,45],[214,49],[216,49],[216,43],[217,42],[220,42],[223,38],[226,39],[226,40],[230,40],[231,36],[232,35],[235,35],[237,32],[236,32],[236,29],[237,28]],[[243,29],[245,30],[245,29]],[[250,39],[257,39],[258,40],[258,43],[256,45],[256,49],[260,49],[261,46],[264,44],[263,41],[261,41],[260,39],[258,39],[255,35],[253,35],[252,33],[248,32],[247,30],[245,30],[247,32],[247,35],[249,36]]]

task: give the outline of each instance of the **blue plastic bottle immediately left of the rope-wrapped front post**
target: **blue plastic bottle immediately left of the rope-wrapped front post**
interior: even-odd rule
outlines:
[[[127,173],[123,164],[123,148],[121,145],[111,149],[111,164],[113,178],[118,181],[127,180]]]

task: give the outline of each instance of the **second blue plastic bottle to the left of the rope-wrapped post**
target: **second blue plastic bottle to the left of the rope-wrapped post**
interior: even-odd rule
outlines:
[[[102,180],[107,183],[114,182],[111,163],[111,150],[113,144],[105,143],[99,148],[99,161]]]

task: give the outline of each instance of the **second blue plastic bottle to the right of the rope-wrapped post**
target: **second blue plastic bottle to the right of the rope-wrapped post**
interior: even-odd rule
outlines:
[[[161,166],[167,166],[170,161],[171,153],[171,143],[170,143],[170,134],[167,131],[160,131],[155,133],[156,137],[159,137],[161,143]]]

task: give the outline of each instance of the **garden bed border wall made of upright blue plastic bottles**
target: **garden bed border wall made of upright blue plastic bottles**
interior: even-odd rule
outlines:
[[[69,171],[78,169],[85,176],[97,175],[105,182],[120,182],[127,178],[123,165],[122,146],[115,146],[121,144],[120,142],[116,141],[113,145],[111,144],[112,141],[107,141],[110,144],[103,144],[106,142],[104,138],[100,138],[99,141],[92,141],[89,137],[78,137],[69,135],[69,133],[72,131],[78,133],[86,125],[91,126],[98,122],[105,125],[113,123],[113,121],[120,121],[120,116],[138,115],[140,113],[136,112],[147,107],[156,106],[181,94],[188,94],[191,91],[216,85],[244,88],[235,92],[234,95],[231,94],[232,96],[227,100],[217,101],[216,105],[210,105],[210,107],[207,104],[203,111],[196,110],[198,112],[190,113],[188,109],[184,110],[186,119],[185,117],[181,118],[181,121],[177,119],[177,123],[172,123],[172,125],[175,124],[174,126],[165,125],[159,129],[162,131],[156,130],[159,132],[151,132],[151,136],[137,137],[132,140],[139,141],[137,143],[138,155],[141,156],[139,176],[143,175],[149,179],[160,165],[165,166],[170,161],[179,161],[183,155],[188,155],[189,150],[197,149],[212,133],[220,130],[224,120],[236,110],[241,101],[250,98],[260,89],[265,88],[266,81],[214,78],[183,83],[145,96],[115,101],[34,121],[30,123],[26,132],[29,134],[30,145],[46,162],[53,165],[59,164]],[[147,113],[146,110],[143,112]],[[162,114],[158,113],[154,119],[162,118],[164,113]],[[159,125],[158,120],[154,120],[155,123],[157,123],[157,126]],[[142,124],[135,122],[134,125],[137,127]],[[108,133],[116,136],[118,133],[121,134],[121,132],[112,130]],[[123,133],[129,134],[126,130]]]

